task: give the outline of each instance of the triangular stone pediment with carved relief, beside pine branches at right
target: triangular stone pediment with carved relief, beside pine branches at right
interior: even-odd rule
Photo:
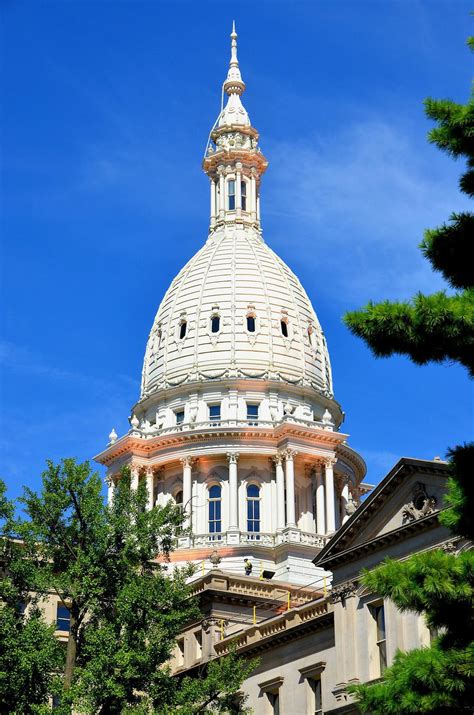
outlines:
[[[433,518],[442,508],[448,476],[446,462],[400,459],[326,544],[315,563]]]

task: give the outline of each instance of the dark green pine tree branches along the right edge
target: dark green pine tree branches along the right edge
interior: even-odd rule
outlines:
[[[471,48],[474,42],[469,41]],[[474,98],[467,104],[427,99],[426,114],[437,122],[429,140],[454,158],[467,160],[461,191],[474,196]],[[344,320],[376,356],[408,355],[415,363],[456,361],[474,375],[474,215],[452,214],[449,222],[427,230],[421,249],[441,271],[454,294],[411,302],[369,303]],[[474,445],[448,453],[451,476],[447,509],[440,521],[460,537],[474,536]],[[398,652],[381,682],[349,688],[363,712],[449,713],[468,711],[474,702],[474,552],[457,556],[434,550],[403,562],[385,561],[363,581],[402,611],[425,615],[438,632],[428,648]]]

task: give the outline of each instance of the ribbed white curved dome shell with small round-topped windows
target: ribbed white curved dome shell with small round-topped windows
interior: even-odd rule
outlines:
[[[325,339],[304,288],[257,231],[235,225],[211,234],[166,292],[147,344],[142,397],[227,377],[332,395]]]

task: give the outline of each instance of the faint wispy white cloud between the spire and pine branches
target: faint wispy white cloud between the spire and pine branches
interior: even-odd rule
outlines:
[[[461,166],[417,141],[409,128],[380,120],[270,147],[264,206],[272,243],[284,251],[280,227],[287,232],[291,219],[296,261],[311,258],[330,276],[320,291],[360,302],[445,287],[418,244],[424,228],[468,200],[457,186]]]

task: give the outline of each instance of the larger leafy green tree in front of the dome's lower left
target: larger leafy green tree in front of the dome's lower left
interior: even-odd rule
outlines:
[[[25,490],[27,518],[17,529],[36,565],[31,581],[56,593],[71,616],[64,712],[159,713],[180,697],[166,663],[178,633],[200,614],[189,595],[190,568],[170,573],[167,565],[183,513],[172,503],[148,510],[147,499],[145,484],[132,490],[124,470],[106,506],[99,476],[73,459],[48,463],[40,493]],[[212,679],[212,669],[207,676],[216,702],[247,672],[234,656],[227,662],[233,681]]]

